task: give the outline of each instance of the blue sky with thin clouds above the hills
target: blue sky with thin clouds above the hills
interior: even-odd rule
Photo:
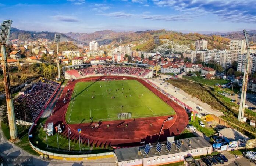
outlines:
[[[256,29],[256,1],[0,0],[0,19],[34,31],[230,32]]]

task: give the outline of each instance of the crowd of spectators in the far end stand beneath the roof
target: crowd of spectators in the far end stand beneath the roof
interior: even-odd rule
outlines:
[[[146,68],[139,68],[139,67],[88,67],[79,69],[79,71],[82,72],[82,75],[90,75],[90,74],[128,74],[128,75],[135,75],[135,76],[145,76],[147,75],[151,70]]]

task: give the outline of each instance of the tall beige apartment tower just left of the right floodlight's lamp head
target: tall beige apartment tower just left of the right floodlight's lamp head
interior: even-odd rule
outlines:
[[[245,40],[231,40],[230,41],[230,54],[231,63],[238,60],[238,55],[245,53],[246,41]]]

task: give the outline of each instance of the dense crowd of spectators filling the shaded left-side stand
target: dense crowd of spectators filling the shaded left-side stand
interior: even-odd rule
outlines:
[[[14,100],[15,117],[18,120],[33,122],[59,83],[50,79],[39,80],[24,95]]]

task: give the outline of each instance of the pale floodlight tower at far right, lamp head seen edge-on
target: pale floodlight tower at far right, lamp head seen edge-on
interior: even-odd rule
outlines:
[[[247,45],[247,54],[246,54],[246,67],[245,72],[243,74],[243,86],[242,86],[242,94],[239,106],[239,113],[238,113],[238,121],[243,122],[243,116],[245,113],[245,99],[246,99],[246,91],[247,91],[247,81],[248,81],[248,73],[249,73],[249,63],[250,63],[250,44],[248,41],[248,34],[246,30],[243,30],[245,35],[246,45]]]

